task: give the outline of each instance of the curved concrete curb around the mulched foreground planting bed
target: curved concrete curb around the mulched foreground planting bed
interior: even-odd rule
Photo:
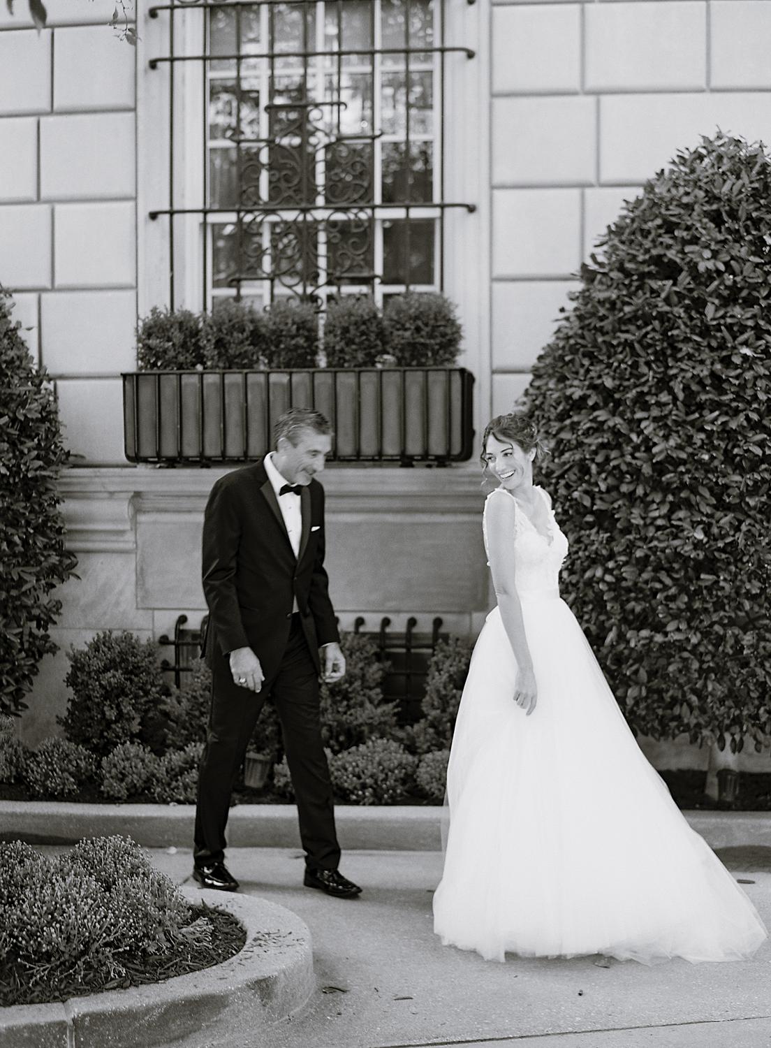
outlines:
[[[302,1008],[314,989],[307,925],[265,899],[182,892],[237,917],[246,927],[243,949],[164,983],[3,1008],[3,1048],[233,1048],[247,1035],[250,1046],[268,1046],[270,1025]]]

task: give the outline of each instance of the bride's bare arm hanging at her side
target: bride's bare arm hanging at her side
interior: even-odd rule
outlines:
[[[501,610],[501,620],[516,659],[514,701],[528,714],[531,714],[535,708],[537,691],[533,662],[525,635],[522,605],[516,592],[514,558],[511,548],[515,511],[514,500],[508,495],[502,494],[489,500],[485,522],[487,552],[492,572],[492,585],[495,588],[498,607]]]

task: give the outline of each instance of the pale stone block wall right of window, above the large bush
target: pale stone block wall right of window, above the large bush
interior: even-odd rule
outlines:
[[[510,0],[491,32],[491,407],[623,201],[723,131],[771,145],[767,0]]]

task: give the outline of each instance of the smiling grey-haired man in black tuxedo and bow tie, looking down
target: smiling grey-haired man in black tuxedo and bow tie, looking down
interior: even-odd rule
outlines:
[[[212,713],[201,761],[193,875],[235,891],[224,864],[236,776],[270,696],[281,719],[306,853],[304,883],[351,898],[320,722],[318,677],[346,672],[324,569],[324,488],[314,479],[332,445],[327,419],[293,408],[278,420],[276,450],[221,477],[203,520],[205,657]]]

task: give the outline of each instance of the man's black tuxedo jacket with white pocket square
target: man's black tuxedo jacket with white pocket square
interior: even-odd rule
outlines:
[[[324,488],[311,480],[300,501],[303,529],[295,558],[262,462],[220,477],[212,488],[202,558],[210,667],[235,648],[248,647],[265,677],[272,676],[286,648],[295,597],[320,671],[320,647],[339,640],[324,569]]]

